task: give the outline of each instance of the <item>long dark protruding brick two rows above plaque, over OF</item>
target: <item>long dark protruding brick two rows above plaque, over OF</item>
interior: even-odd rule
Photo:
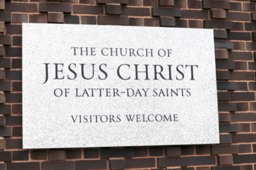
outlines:
[[[153,16],[175,16],[180,17],[182,15],[180,8],[165,8],[157,7],[152,9]]]

